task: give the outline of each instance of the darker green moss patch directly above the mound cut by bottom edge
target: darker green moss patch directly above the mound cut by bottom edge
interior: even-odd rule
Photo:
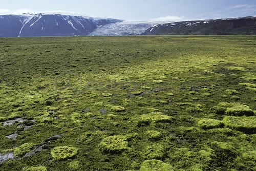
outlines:
[[[145,148],[145,152],[143,153],[143,158],[161,160],[164,158],[164,155],[165,155],[164,147],[160,144],[153,144]]]

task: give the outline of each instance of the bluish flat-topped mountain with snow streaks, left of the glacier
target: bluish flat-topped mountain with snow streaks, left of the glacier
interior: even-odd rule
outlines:
[[[83,36],[118,22],[122,20],[65,14],[0,15],[0,37]]]

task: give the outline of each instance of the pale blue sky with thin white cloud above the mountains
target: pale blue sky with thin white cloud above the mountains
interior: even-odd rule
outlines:
[[[0,0],[0,15],[74,12],[124,20],[217,19],[256,15],[256,0]]]

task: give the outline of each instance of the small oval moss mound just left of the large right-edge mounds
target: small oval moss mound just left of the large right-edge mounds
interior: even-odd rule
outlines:
[[[215,129],[219,127],[223,127],[223,122],[216,119],[206,119],[203,118],[197,122],[197,125],[202,129]]]

